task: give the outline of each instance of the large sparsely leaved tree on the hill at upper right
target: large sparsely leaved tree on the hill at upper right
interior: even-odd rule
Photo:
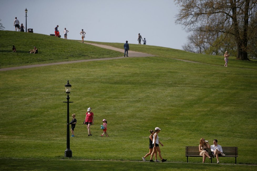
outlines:
[[[249,21],[257,12],[257,0],[174,0],[180,6],[176,23],[187,31],[200,31],[205,37],[234,36],[237,58],[248,59],[248,41],[253,38]],[[257,23],[250,22],[256,28]],[[210,39],[212,40],[212,39]],[[221,40],[223,41],[223,40]],[[220,42],[221,42],[220,41]],[[219,42],[209,42],[212,46]]]

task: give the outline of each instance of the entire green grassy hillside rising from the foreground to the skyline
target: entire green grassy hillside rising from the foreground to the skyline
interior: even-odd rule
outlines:
[[[84,45],[75,40],[10,31],[0,31],[0,34],[1,59],[9,58],[8,62],[1,63],[1,67],[122,56],[119,52]],[[23,37],[18,39],[17,34]],[[11,49],[13,44],[11,40],[19,41],[19,44],[23,42],[21,48],[15,44],[17,50],[23,52],[8,52],[7,48]],[[35,45],[35,42],[38,44]],[[63,48],[65,44],[69,46]],[[26,53],[26,49],[34,45],[40,47],[37,54],[40,58],[38,61],[27,60],[33,55]],[[53,50],[50,50],[51,46]],[[185,146],[198,146],[202,137],[210,142],[216,138],[222,146],[237,146],[238,164],[257,164],[254,156],[257,152],[255,61],[240,61],[232,57],[229,67],[222,67],[224,60],[220,56],[156,46],[130,46],[131,50],[149,52],[156,57],[0,72],[0,165],[6,169],[12,168],[12,165],[6,166],[6,163],[16,163],[11,159],[22,159],[17,160],[18,165],[23,165],[25,161],[27,163],[23,159],[39,159],[39,163],[51,160],[61,165],[57,159],[64,158],[66,149],[66,104],[63,101],[66,101],[64,85],[68,79],[72,85],[70,101],[74,102],[70,104],[70,115],[75,113],[78,120],[75,137],[70,139],[71,159],[141,161],[149,151],[148,130],[160,127],[163,158],[182,164],[156,163],[151,167],[163,170],[174,165],[176,169],[184,170],[229,169],[216,164],[202,166],[200,157],[189,158],[190,162],[198,165],[185,164]],[[88,56],[79,56],[81,53]],[[50,55],[54,60],[49,60]],[[17,62],[16,56],[24,60]],[[211,61],[213,65],[209,64]],[[95,115],[95,125],[91,127],[93,136],[90,137],[82,124],[88,107],[92,107]],[[102,119],[108,121],[108,138],[100,136]],[[220,158],[220,163],[234,163],[234,160]],[[107,163],[96,161],[95,164],[104,167]],[[120,162],[117,165],[118,168],[131,166],[131,170],[134,165],[137,170],[151,168],[149,163],[143,162],[132,165]],[[39,170],[47,169],[40,166]],[[245,169],[254,170],[256,166]],[[235,166],[234,170],[244,169]]]

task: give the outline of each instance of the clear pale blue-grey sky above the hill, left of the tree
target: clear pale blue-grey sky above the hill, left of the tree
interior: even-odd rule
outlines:
[[[187,33],[175,24],[178,7],[173,0],[0,0],[0,23],[4,30],[15,31],[14,19],[34,33],[54,34],[59,25],[68,39],[138,44],[138,33],[147,45],[182,49]],[[142,42],[141,42],[142,43]]]

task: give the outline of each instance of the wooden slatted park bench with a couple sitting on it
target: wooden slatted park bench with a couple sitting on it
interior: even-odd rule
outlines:
[[[212,156],[212,152],[210,148],[207,148],[209,156]],[[237,157],[238,157],[238,148],[237,147],[222,147],[223,153],[226,156],[219,156],[219,157],[235,157],[235,164],[237,164]],[[186,157],[187,157],[187,163],[188,163],[188,157],[202,157],[199,155],[199,147],[197,146],[186,146]],[[206,158],[208,159],[208,158]],[[212,158],[211,158],[212,163]]]

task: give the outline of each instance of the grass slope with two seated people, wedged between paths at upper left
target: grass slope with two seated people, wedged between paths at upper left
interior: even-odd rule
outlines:
[[[0,67],[15,67],[96,58],[119,57],[120,52],[43,34],[0,31]],[[17,52],[12,53],[13,45]],[[38,54],[28,51],[36,46]]]

